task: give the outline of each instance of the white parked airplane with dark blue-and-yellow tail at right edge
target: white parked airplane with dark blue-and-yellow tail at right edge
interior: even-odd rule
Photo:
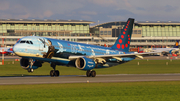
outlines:
[[[176,40],[173,48],[150,48],[148,52],[159,52],[164,56],[168,56],[168,54],[174,55],[174,53],[177,54],[179,52],[179,40]]]

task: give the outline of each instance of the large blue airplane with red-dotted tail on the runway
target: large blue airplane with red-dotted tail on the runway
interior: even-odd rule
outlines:
[[[18,40],[13,52],[22,57],[20,65],[28,72],[49,62],[53,70],[51,77],[59,76],[56,65],[76,67],[86,71],[87,77],[95,77],[97,68],[119,65],[136,57],[143,59],[155,52],[129,52],[134,19],[129,18],[112,47],[96,46],[78,42],[58,40],[40,36],[26,36]]]

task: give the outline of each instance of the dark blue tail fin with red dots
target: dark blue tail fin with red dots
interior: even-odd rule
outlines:
[[[116,40],[115,44],[111,47],[112,49],[117,49],[125,52],[129,51],[133,24],[134,19],[129,18],[123,30],[121,31],[121,34],[118,36],[118,39]]]

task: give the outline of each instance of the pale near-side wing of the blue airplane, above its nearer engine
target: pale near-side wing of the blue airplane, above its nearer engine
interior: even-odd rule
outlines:
[[[109,58],[115,58],[118,60],[121,60],[123,57],[138,57],[140,59],[143,59],[143,56],[149,56],[151,54],[157,54],[158,52],[148,52],[148,53],[132,53],[132,54],[110,54],[110,55],[92,55],[92,56],[69,56],[70,60],[75,60],[80,57],[87,57],[91,59],[95,58],[103,58],[103,59],[109,59]]]

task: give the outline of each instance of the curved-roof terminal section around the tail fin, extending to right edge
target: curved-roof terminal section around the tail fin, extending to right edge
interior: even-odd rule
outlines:
[[[125,22],[108,22],[93,26],[91,33],[96,33],[112,45],[112,40],[121,32]],[[131,47],[172,47],[180,40],[180,22],[135,21],[132,33]]]

